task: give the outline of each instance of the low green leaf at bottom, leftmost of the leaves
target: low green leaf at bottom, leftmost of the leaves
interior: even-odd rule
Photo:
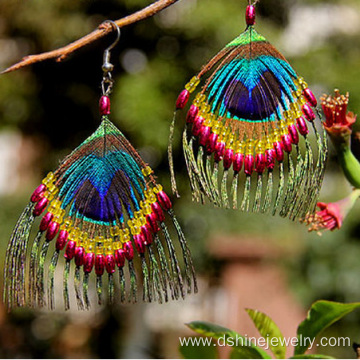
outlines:
[[[186,325],[198,334],[216,339],[218,346],[225,346],[225,344],[232,346],[234,349],[233,359],[271,359],[263,349],[256,347],[247,338],[235,331],[203,321],[193,321]]]

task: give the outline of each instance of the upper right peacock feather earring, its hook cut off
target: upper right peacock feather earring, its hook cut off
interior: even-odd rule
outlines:
[[[327,139],[315,124],[320,113],[305,80],[255,30],[256,2],[247,6],[246,30],[203,66],[178,97],[169,139],[172,189],[177,194],[175,119],[196,93],[182,141],[193,200],[207,198],[218,207],[278,212],[295,220],[315,211]]]

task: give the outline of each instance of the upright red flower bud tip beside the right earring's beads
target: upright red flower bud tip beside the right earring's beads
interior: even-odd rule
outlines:
[[[321,105],[325,114],[325,129],[333,135],[351,133],[351,127],[356,121],[356,115],[347,113],[349,93],[341,95],[339,90],[334,90],[335,95],[323,95]]]

